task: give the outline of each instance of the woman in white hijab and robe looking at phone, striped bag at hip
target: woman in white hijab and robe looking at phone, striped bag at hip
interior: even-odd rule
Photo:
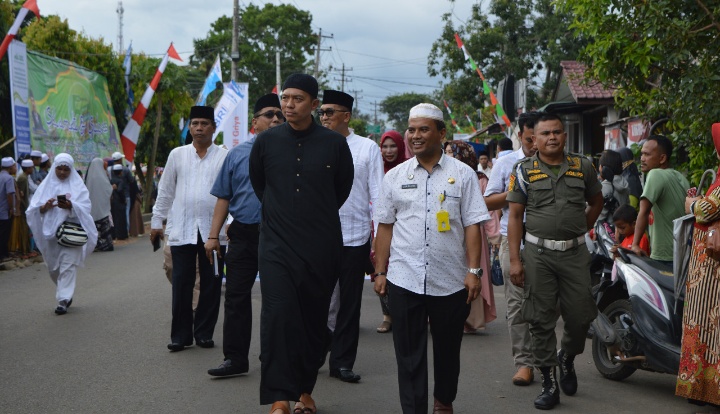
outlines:
[[[97,243],[97,229],[90,215],[91,203],[87,187],[75,171],[69,154],[58,154],[47,177],[42,181],[27,210],[27,220],[35,243],[45,259],[50,278],[57,285],[55,313],[67,313],[75,293],[77,268],[85,265],[85,257]],[[58,200],[64,195],[65,200]],[[79,223],[87,232],[87,244],[65,247],[57,242],[55,233],[65,222]]]

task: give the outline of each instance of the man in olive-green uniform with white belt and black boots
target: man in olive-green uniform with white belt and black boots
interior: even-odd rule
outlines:
[[[530,324],[533,358],[542,374],[535,408],[544,410],[560,402],[557,365],[563,393],[577,391],[574,358],[583,352],[585,334],[597,315],[590,293],[590,253],[583,244],[602,210],[601,184],[590,161],[565,152],[566,138],[557,115],[540,114],[533,134],[538,152],[515,165],[507,195],[510,278],[524,288],[522,315]],[[565,330],[556,356],[558,300]]]

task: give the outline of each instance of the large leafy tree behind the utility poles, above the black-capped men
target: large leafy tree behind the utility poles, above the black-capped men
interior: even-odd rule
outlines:
[[[250,96],[260,97],[275,86],[275,51],[280,49],[281,76],[304,72],[316,36],[312,15],[289,4],[249,4],[239,12],[238,79],[250,84]],[[190,64],[209,71],[220,54],[223,77],[230,79],[232,17],[221,16],[204,39],[195,39]],[[254,98],[253,98],[254,99]]]

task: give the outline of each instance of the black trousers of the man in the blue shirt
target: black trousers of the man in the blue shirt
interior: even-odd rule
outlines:
[[[233,221],[228,229],[230,244],[225,255],[225,320],[223,354],[233,366],[249,368],[248,353],[252,333],[251,294],[258,273],[257,224]]]

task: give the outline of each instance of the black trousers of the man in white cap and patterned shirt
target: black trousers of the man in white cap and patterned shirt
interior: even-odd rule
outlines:
[[[466,303],[467,291],[462,289],[448,296],[429,296],[390,282],[388,285],[403,414],[428,412],[428,319],[433,337],[433,395],[443,404],[452,404],[457,396],[460,377],[463,327],[470,313],[470,305]]]

